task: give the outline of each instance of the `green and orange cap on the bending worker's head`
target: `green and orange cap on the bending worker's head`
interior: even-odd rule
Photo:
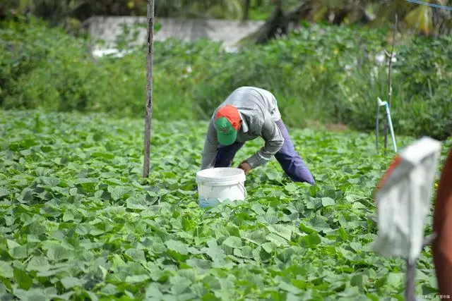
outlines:
[[[226,104],[218,109],[215,115],[215,128],[220,145],[232,145],[235,142],[241,120],[239,110],[235,106]]]

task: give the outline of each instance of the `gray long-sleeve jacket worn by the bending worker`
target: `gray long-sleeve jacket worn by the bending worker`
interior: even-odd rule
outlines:
[[[265,145],[256,154],[246,159],[255,168],[266,164],[283,147],[284,138],[275,121],[280,120],[281,114],[272,93],[256,87],[239,87],[218,106],[231,104],[242,116],[242,128],[237,133],[237,142],[254,140],[262,137]],[[206,142],[202,153],[201,169],[212,168],[218,151],[218,139],[215,130],[215,109],[208,126]]]

